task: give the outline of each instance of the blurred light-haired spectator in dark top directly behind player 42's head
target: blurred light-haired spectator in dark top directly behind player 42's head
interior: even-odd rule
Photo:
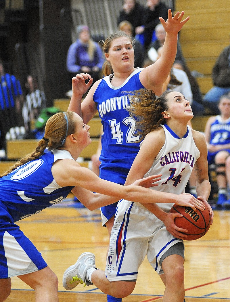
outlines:
[[[133,36],[133,26],[129,21],[122,21],[119,23],[118,29],[124,31],[129,36]],[[134,42],[134,67],[142,67],[145,51],[139,40],[134,38]]]

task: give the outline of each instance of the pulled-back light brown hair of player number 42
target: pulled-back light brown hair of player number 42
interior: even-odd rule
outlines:
[[[123,31],[116,31],[115,33],[110,34],[105,41],[101,40],[99,43],[104,51],[104,53],[108,53],[111,47],[111,44],[113,42],[113,40],[120,38],[120,37],[127,37],[129,38],[130,42],[133,45],[135,45],[135,41],[132,37],[130,37],[129,35],[127,35],[126,33],[124,33]],[[111,73],[113,73],[113,68],[110,64],[109,61],[105,61],[103,66],[102,66],[102,71],[104,73],[104,76],[109,76]]]

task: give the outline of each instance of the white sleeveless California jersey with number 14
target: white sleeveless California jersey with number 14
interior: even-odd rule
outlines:
[[[165,131],[165,144],[156,156],[152,167],[145,174],[162,174],[158,186],[151,189],[182,194],[190,178],[196,160],[200,157],[200,151],[193,140],[192,131],[187,126],[187,132],[181,139],[166,124],[161,125]],[[141,146],[141,145],[140,145]],[[169,211],[173,204],[157,203],[161,209]]]

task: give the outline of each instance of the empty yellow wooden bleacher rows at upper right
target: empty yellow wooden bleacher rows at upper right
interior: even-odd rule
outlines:
[[[177,0],[175,10],[190,16],[180,31],[180,44],[189,69],[205,75],[204,79],[197,78],[204,94],[212,87],[217,57],[229,45],[229,0]]]

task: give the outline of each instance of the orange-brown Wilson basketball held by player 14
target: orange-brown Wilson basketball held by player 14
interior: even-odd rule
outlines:
[[[196,209],[194,211],[190,207],[183,207],[174,204],[170,210],[171,213],[183,214],[183,217],[176,217],[175,224],[182,228],[188,230],[186,234],[188,237],[184,240],[195,240],[204,236],[209,230],[211,223],[211,216],[207,207],[203,211]]]

